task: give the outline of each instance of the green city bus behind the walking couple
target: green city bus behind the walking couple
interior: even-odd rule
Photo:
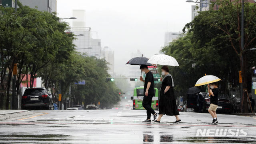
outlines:
[[[144,97],[144,86],[134,88],[133,93],[133,109],[134,110],[145,110],[145,108],[142,106],[142,100]],[[158,89],[155,88],[155,96],[152,98],[152,104],[151,107],[154,110],[158,110]]]

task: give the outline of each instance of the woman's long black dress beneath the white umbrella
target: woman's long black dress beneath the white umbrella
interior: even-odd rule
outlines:
[[[166,86],[170,86],[169,90],[164,94]],[[179,115],[176,100],[174,98],[174,90],[172,87],[171,76],[166,76],[162,82],[161,93],[159,99],[159,113],[166,114],[167,116]]]

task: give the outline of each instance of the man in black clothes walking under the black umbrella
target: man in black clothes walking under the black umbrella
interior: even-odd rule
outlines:
[[[140,81],[144,82],[144,97],[142,101],[142,106],[147,110],[147,119],[142,122],[151,122],[151,114],[154,116],[154,120],[156,119],[157,113],[151,107],[152,98],[155,95],[154,88],[154,76],[152,72],[148,70],[148,66],[141,65],[140,70],[143,74],[146,74],[145,80],[140,76]]]

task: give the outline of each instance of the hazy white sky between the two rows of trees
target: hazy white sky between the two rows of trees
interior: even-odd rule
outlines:
[[[125,74],[130,54],[140,50],[150,58],[164,45],[164,32],[181,32],[191,21],[186,0],[57,0],[61,18],[86,10],[86,27],[98,32],[101,45],[115,52],[115,71]],[[72,26],[72,20],[66,20]],[[95,36],[95,35],[94,35]]]

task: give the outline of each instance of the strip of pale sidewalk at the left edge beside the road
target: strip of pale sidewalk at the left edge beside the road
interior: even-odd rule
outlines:
[[[33,110],[0,110],[0,120],[34,114]]]

